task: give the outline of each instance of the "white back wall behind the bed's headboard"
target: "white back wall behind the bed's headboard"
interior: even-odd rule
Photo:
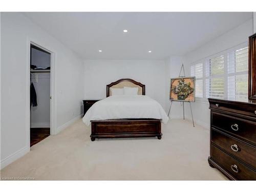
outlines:
[[[106,97],[106,84],[131,78],[145,84],[146,95],[165,108],[165,62],[162,60],[84,60],[84,98]]]

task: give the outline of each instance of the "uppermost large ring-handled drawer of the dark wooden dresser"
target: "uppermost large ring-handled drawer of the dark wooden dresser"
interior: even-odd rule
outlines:
[[[256,144],[256,123],[212,112],[211,125]]]

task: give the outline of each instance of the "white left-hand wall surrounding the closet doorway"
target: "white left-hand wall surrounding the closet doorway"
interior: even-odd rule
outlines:
[[[55,53],[55,128],[81,114],[82,60],[23,14],[2,13],[1,168],[30,150],[29,39]]]

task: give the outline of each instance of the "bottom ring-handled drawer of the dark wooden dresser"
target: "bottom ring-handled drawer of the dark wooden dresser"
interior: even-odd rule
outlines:
[[[211,157],[228,173],[239,180],[256,180],[256,172],[240,163],[214,145],[211,145]]]

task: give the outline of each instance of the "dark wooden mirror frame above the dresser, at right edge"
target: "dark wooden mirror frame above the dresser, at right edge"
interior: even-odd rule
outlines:
[[[248,98],[256,99],[256,33],[249,36]]]

